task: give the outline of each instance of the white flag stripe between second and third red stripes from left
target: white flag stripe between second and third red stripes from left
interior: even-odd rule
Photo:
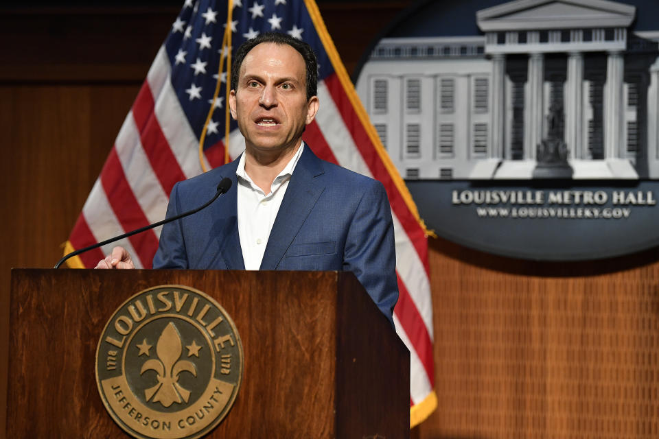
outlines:
[[[132,110],[128,112],[128,117],[119,130],[115,148],[119,162],[124,168],[128,185],[146,215],[147,221],[154,223],[164,219],[167,210],[167,194],[163,191],[149,158],[142,148],[139,131],[137,131],[135,119],[132,117]],[[159,237],[159,233],[157,236]]]

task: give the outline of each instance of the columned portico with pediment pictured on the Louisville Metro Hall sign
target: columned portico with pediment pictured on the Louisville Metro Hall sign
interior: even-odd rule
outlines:
[[[548,109],[555,106],[559,106],[564,114],[564,141],[576,178],[586,178],[593,172],[599,177],[637,177],[632,164],[620,160],[624,158],[625,145],[624,112],[621,111],[625,71],[623,51],[627,48],[627,27],[634,20],[634,14],[633,6],[600,0],[518,0],[478,11],[476,22],[485,32],[485,54],[492,56],[493,72],[498,71],[496,66],[505,65],[502,56],[528,54],[526,110],[521,125],[524,129],[524,156],[521,163],[500,156],[502,163],[494,178],[531,177],[537,145],[547,134]],[[588,122],[583,112],[583,57],[584,54],[597,53],[607,56],[601,163],[592,161],[590,151],[583,145],[582,135]],[[553,90],[555,84],[550,83],[549,94],[553,95],[550,97],[546,92],[545,60],[547,56],[557,54],[567,58],[566,83],[563,91]],[[505,91],[496,89],[504,84],[505,81],[492,81],[493,98],[505,95]],[[493,108],[497,107],[494,103]],[[499,121],[497,112],[493,111],[493,130]],[[588,163],[582,166],[581,161]],[[611,166],[607,161],[615,164]]]

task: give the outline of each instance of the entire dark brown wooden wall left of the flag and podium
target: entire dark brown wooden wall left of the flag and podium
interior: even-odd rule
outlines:
[[[145,14],[146,12],[146,14]],[[176,14],[176,12],[174,12]],[[0,438],[11,267],[49,267],[126,116],[171,11],[6,8],[0,38]],[[167,17],[166,21],[164,20]],[[157,32],[155,32],[157,29]]]

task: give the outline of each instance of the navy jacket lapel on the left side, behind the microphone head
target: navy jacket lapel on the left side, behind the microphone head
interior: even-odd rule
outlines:
[[[231,178],[231,188],[222,195],[221,203],[213,203],[211,206],[211,239],[217,243],[217,254],[214,256],[218,262],[224,261],[227,270],[244,270],[245,263],[242,259],[240,248],[240,235],[238,235],[238,178],[235,169],[238,167],[238,159],[228,167],[225,176]],[[219,200],[218,200],[219,201]],[[212,263],[209,268],[222,268],[220,263]]]

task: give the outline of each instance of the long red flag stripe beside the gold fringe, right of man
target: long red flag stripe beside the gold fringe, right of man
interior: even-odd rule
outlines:
[[[338,108],[338,112],[341,117],[343,117],[345,126],[352,135],[357,149],[366,165],[369,167],[371,175],[376,180],[380,180],[384,185],[386,193],[389,195],[391,209],[394,211],[400,224],[403,226],[405,233],[408,235],[410,241],[417,250],[419,259],[421,259],[421,262],[424,264],[426,276],[429,277],[428,246],[426,245],[424,230],[419,226],[417,219],[408,209],[400,191],[398,191],[391,175],[389,175],[389,171],[384,167],[384,163],[380,160],[380,156],[375,153],[375,146],[371,142],[371,138],[359,120],[350,99],[348,99],[345,94],[345,90],[338,80],[336,73],[325,78],[325,85],[327,86],[329,94],[332,95],[332,99],[334,100],[336,108]]]

